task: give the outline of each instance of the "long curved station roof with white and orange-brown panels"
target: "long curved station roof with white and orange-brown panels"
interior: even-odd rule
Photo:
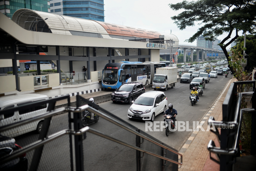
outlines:
[[[30,9],[19,9],[12,17],[12,20],[26,30],[35,31],[36,19],[45,19],[38,22],[37,30],[40,32],[51,32],[56,34],[72,35],[70,31],[88,32],[101,34],[103,38],[111,38],[109,35],[119,35],[138,38],[159,38],[164,35],[165,40],[173,39],[178,45],[179,39],[173,34],[160,33],[136,27],[122,26],[107,22],[87,20],[83,18],[69,17],[54,13],[35,11]],[[122,39],[122,38],[111,38]]]

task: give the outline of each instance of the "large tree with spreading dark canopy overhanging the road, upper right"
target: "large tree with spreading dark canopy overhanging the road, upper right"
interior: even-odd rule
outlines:
[[[239,37],[238,31],[253,33],[256,27],[256,1],[255,0],[199,0],[183,1],[169,4],[172,10],[183,10],[177,16],[171,17],[180,30],[187,26],[195,26],[195,22],[202,25],[187,42],[194,42],[200,35],[205,40],[214,41],[218,36],[228,33],[219,44],[227,60],[229,54],[226,47]],[[235,31],[235,37],[231,38]],[[230,39],[231,38],[231,39]],[[228,40],[230,39],[230,40]],[[226,44],[225,42],[228,41]],[[230,68],[233,71],[233,68]]]

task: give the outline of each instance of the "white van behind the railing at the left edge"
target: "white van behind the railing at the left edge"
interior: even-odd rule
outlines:
[[[28,104],[34,101],[47,99],[48,97],[46,95],[41,94],[23,94],[0,97],[0,111],[19,105]],[[42,115],[47,111],[47,107],[48,104],[42,104],[38,107],[31,106],[30,109],[21,109],[12,113],[4,113],[3,115],[0,115],[0,127]],[[40,133],[42,125],[43,119],[14,127],[12,129],[0,132],[0,134],[6,137],[16,137],[34,130],[37,130],[37,132]]]

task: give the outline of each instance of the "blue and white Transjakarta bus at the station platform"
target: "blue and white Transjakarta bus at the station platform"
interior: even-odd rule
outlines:
[[[108,63],[102,74],[102,87],[119,88],[125,82],[142,82],[143,85],[152,84],[157,68],[165,67],[160,62],[129,62]],[[153,74],[151,74],[153,73]]]

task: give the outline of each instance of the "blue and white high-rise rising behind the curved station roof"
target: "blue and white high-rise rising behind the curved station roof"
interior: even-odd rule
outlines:
[[[104,1],[50,0],[51,13],[104,22]]]

